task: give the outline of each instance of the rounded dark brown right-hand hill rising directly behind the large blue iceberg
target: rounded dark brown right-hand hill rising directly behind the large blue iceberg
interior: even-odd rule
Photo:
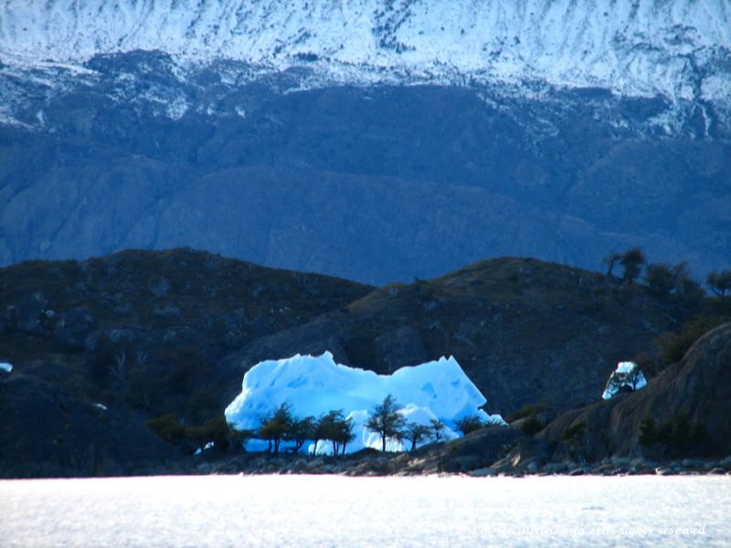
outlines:
[[[639,284],[497,258],[379,288],[347,311],[264,337],[228,360],[245,370],[265,358],[330,350],[344,363],[388,373],[452,354],[493,412],[538,402],[564,409],[599,398],[618,361],[651,349],[692,314]]]

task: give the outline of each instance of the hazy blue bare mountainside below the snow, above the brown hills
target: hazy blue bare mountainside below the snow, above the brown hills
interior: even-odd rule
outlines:
[[[190,246],[386,283],[503,255],[595,268],[641,245],[701,272],[731,255],[729,136],[693,117],[665,134],[659,98],[292,91],[296,75],[225,84],[226,66],[178,79],[145,52],[89,65],[64,92],[13,82],[20,120],[45,125],[0,127],[0,264]],[[179,97],[180,118],[160,111]]]

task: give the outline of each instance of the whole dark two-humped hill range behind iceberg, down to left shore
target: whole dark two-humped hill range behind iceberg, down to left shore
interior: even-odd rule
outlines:
[[[5,476],[174,466],[145,420],[202,425],[256,361],[298,352],[376,372],[453,354],[491,413],[561,410],[695,313],[535,259],[374,289],[186,249],[21,263],[0,269],[0,302]]]

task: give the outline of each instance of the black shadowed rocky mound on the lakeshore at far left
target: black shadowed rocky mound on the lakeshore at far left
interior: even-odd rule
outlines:
[[[144,427],[139,416],[102,405],[79,401],[58,384],[32,375],[0,374],[0,477],[116,476],[175,469],[181,455]]]

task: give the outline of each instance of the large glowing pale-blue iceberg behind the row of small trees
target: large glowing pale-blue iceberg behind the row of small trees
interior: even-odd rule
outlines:
[[[380,438],[365,428],[365,421],[368,412],[389,394],[397,399],[399,413],[409,422],[429,425],[435,418],[444,422],[446,438],[457,437],[451,427],[463,416],[479,415],[486,423],[504,424],[501,416],[489,416],[479,408],[487,400],[453,357],[381,375],[335,364],[328,352],[255,365],[244,375],[241,393],[226,408],[226,418],[233,427],[255,430],[261,416],[285,402],[297,416],[321,416],[342,409],[354,424],[355,439],[346,449],[354,452],[380,448]],[[327,442],[320,441],[316,448],[312,445],[305,450],[332,451]],[[247,448],[266,448],[266,442],[253,440]],[[402,446],[392,439],[387,448],[400,450]]]

